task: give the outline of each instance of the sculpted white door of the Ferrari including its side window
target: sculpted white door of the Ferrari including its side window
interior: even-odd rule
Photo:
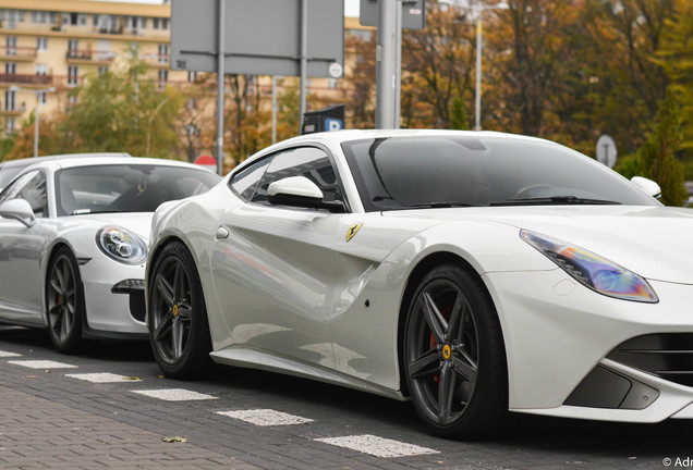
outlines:
[[[351,214],[271,206],[267,187],[290,176],[313,181],[326,201],[344,201],[335,165],[318,147],[290,148],[238,173],[230,190],[245,203],[220,220],[215,288],[233,344],[332,368],[331,246]]]

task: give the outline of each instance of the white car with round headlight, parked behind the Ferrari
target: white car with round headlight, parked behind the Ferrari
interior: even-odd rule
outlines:
[[[62,352],[84,337],[146,338],[154,210],[219,180],[170,160],[38,159],[0,193],[0,322],[47,327]]]

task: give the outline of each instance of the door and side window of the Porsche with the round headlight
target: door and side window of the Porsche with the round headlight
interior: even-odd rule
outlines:
[[[41,170],[15,180],[0,195],[0,203],[25,199],[37,222],[27,227],[22,222],[0,217],[0,314],[25,323],[41,322],[41,253],[46,246],[48,198],[46,175]]]

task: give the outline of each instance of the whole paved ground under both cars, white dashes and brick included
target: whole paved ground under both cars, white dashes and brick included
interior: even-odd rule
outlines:
[[[0,397],[2,469],[665,469],[665,458],[669,468],[685,467],[685,458],[693,465],[689,421],[516,415],[495,441],[452,442],[427,434],[405,403],[233,368],[219,368],[214,380],[174,381],[160,375],[146,344],[94,343],[63,356],[42,333],[4,326]]]

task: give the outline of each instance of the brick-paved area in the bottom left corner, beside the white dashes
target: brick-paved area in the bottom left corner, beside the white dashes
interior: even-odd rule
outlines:
[[[0,396],[2,469],[257,469],[12,388],[0,386]]]

